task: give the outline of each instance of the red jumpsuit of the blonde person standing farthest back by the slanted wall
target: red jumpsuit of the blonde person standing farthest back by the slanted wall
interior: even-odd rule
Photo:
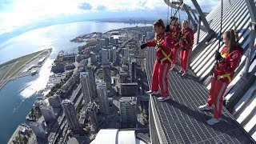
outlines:
[[[194,32],[193,30],[188,27],[186,30],[182,29],[182,34],[180,35],[180,46],[181,48],[185,48],[186,50],[181,50],[181,67],[182,70],[185,72],[188,70],[189,67],[189,57],[192,51],[192,46],[194,44]]]

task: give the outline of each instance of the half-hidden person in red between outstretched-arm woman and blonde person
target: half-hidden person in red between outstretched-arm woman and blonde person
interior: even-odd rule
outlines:
[[[178,23],[178,18],[177,17],[170,17],[170,34],[171,34],[171,60],[172,62],[172,66],[170,67],[170,70],[174,70],[175,69],[175,65],[177,64],[177,52],[179,49],[179,32],[180,32],[180,26]]]

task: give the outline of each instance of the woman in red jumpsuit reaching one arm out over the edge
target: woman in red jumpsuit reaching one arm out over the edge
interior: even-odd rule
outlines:
[[[156,49],[156,60],[154,62],[154,70],[152,73],[151,90],[147,91],[146,94],[158,94],[158,87],[160,86],[161,97],[159,97],[158,100],[165,101],[170,98],[167,78],[171,66],[170,25],[165,27],[162,19],[158,19],[154,22],[153,28],[155,38],[141,46],[141,49],[146,48],[146,46],[155,46]]]

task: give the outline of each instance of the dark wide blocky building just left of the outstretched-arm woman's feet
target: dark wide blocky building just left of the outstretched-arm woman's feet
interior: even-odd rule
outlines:
[[[134,97],[138,95],[138,83],[120,83],[120,93],[122,97]]]

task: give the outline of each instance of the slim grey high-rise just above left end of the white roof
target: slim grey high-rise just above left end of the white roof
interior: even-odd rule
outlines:
[[[90,102],[87,105],[88,107],[88,113],[89,113],[89,117],[90,117],[90,122],[92,124],[92,126],[96,127],[98,124],[98,117],[97,117],[97,106],[95,105],[94,102]]]

